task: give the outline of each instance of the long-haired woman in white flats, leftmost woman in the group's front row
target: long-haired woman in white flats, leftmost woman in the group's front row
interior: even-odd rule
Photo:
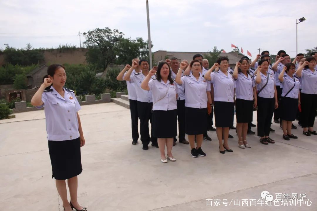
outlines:
[[[151,77],[156,73],[156,79]],[[151,70],[141,84],[144,90],[151,90],[153,96],[152,127],[153,135],[158,138],[161,162],[167,163],[166,157],[176,161],[172,155],[173,139],[177,135],[177,93],[178,88],[171,78],[170,66],[160,62]],[[165,145],[167,156],[165,157]]]

